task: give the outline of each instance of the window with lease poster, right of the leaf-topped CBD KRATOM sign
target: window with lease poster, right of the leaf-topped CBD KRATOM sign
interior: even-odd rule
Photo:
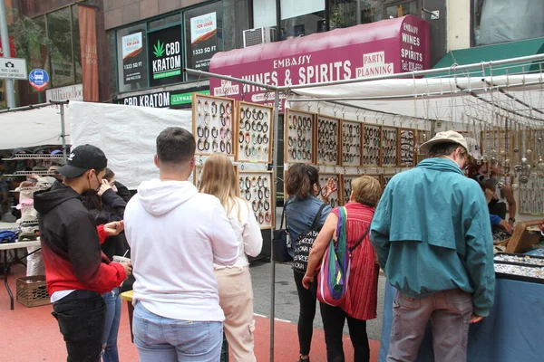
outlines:
[[[187,67],[208,71],[209,60],[223,51],[223,10],[221,3],[200,6],[183,14]],[[192,79],[188,76],[188,80]]]

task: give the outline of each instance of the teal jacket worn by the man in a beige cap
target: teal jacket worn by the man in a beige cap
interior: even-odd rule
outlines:
[[[474,313],[493,305],[490,214],[478,183],[451,160],[429,158],[393,176],[371,225],[371,241],[393,287],[408,298],[460,288]]]

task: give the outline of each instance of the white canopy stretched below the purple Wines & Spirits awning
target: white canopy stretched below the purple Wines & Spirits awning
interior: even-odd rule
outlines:
[[[544,122],[542,87],[542,73],[395,79],[301,88],[287,102],[293,109],[406,128],[428,129],[429,120],[494,125],[497,114],[536,127]]]

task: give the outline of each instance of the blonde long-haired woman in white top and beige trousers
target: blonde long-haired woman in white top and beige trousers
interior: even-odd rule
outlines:
[[[238,178],[228,157],[219,154],[208,157],[200,176],[199,192],[219,198],[238,237],[238,261],[228,267],[214,264],[214,268],[232,357],[237,362],[254,362],[255,321],[248,255],[257,256],[261,252],[263,237],[251,205],[239,196]]]

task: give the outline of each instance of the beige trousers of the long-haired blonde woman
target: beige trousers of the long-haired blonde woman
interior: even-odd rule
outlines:
[[[253,289],[249,267],[215,271],[219,304],[225,312],[223,328],[235,362],[255,362],[253,352]]]

